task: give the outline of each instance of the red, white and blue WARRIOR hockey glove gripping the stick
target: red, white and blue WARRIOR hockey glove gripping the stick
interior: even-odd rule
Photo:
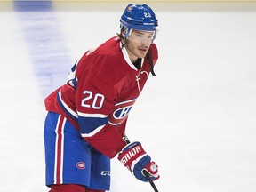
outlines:
[[[151,157],[144,151],[140,142],[132,142],[126,145],[119,153],[118,160],[126,166],[130,172],[138,179],[147,182],[144,171],[148,172],[151,180],[158,180],[158,167]]]

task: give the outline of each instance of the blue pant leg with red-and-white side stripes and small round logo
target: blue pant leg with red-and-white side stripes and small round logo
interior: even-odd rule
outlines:
[[[66,118],[49,113],[44,125],[46,185],[90,185],[91,147]]]

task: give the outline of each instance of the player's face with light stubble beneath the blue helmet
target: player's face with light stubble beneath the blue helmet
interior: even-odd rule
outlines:
[[[146,56],[153,37],[154,32],[132,30],[132,34],[128,37],[125,44],[125,48],[132,62]]]

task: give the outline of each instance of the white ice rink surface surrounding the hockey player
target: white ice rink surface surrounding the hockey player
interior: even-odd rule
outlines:
[[[115,36],[126,4],[66,8],[55,3],[52,12],[14,12],[10,4],[6,10],[0,5],[0,191],[48,191],[44,97],[65,82],[84,51]],[[156,187],[159,192],[255,192],[256,5],[152,3],[152,8],[159,20],[156,77],[150,76],[132,108],[127,134],[159,165]],[[43,64],[36,63],[38,57],[62,56],[48,55],[44,39],[36,45],[44,52],[33,51],[24,28],[41,24],[51,27],[45,33],[58,32],[49,34],[47,49],[63,48],[67,58],[56,63],[56,76],[36,75]],[[116,158],[111,185],[112,192],[153,192]]]

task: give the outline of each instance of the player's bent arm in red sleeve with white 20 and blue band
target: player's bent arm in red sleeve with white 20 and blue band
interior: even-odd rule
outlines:
[[[76,109],[81,135],[92,147],[112,158],[126,145],[122,132],[108,124],[108,115],[116,103],[115,85],[100,81],[92,70],[85,71],[78,81]]]

